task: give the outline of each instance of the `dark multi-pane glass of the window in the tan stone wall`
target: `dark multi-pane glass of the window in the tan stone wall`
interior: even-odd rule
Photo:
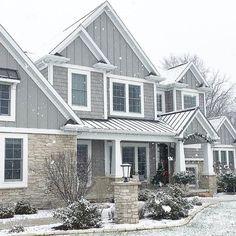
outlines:
[[[5,181],[22,180],[22,145],[22,139],[5,139]]]

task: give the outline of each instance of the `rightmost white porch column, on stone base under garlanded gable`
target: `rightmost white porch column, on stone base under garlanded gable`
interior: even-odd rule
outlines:
[[[215,175],[213,168],[213,149],[210,143],[204,143],[203,175]]]

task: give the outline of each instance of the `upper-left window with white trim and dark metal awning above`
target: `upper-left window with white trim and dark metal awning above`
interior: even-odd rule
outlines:
[[[0,121],[15,121],[17,83],[20,77],[16,70],[0,68]]]

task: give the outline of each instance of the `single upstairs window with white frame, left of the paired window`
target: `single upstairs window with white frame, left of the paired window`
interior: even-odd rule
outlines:
[[[90,72],[68,71],[68,103],[74,110],[91,110]]]

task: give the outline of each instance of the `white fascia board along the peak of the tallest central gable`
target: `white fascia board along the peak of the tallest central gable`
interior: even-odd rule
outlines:
[[[122,34],[124,39],[129,43],[131,48],[134,50],[137,57],[143,63],[143,65],[147,68],[149,72],[154,72],[156,75],[160,76],[160,73],[157,71],[155,66],[152,64],[150,59],[147,57],[145,52],[142,50],[140,45],[134,39],[132,34],[129,32],[125,24],[122,22],[120,17],[117,15],[115,10],[112,8],[109,2],[104,2],[99,8],[97,8],[88,18],[86,18],[81,24],[86,28],[91,22],[93,22],[99,15],[103,12],[110,17],[113,24],[117,27],[119,32]]]

